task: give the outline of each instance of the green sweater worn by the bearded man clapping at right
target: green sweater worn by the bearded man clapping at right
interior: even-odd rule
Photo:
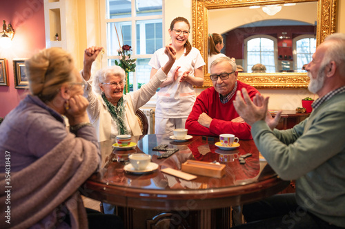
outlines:
[[[293,129],[271,131],[258,121],[251,132],[275,172],[296,179],[297,204],[345,227],[345,93],[323,102]]]

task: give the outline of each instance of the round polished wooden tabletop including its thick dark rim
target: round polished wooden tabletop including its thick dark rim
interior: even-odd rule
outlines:
[[[224,151],[215,146],[219,138],[193,135],[186,142],[175,142],[169,135],[132,137],[137,146],[130,150],[112,147],[112,140],[101,142],[103,166],[86,182],[86,195],[99,201],[129,208],[176,210],[181,206],[189,210],[224,208],[274,195],[288,186],[277,177],[266,161],[259,160],[259,151],[253,140],[240,140],[240,146]],[[163,151],[152,151],[159,144],[179,149],[168,158],[158,159]],[[128,155],[146,153],[159,165],[156,171],[132,174],[124,171]],[[251,153],[246,163],[238,157]],[[181,170],[186,160],[219,162],[226,165],[221,178],[197,175],[187,181],[161,172],[162,168]]]

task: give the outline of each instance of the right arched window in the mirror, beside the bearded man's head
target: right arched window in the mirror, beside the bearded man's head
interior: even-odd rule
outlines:
[[[296,36],[293,39],[293,59],[295,72],[306,72],[303,65],[311,62],[311,58],[316,50],[316,39],[313,34]]]

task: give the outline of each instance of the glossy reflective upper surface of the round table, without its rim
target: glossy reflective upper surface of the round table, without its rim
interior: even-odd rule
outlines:
[[[112,140],[101,142],[103,168],[90,180],[128,188],[207,190],[208,188],[243,186],[277,176],[272,170],[270,173],[262,174],[267,163],[259,161],[259,151],[253,140],[239,141],[239,148],[232,151],[221,150],[215,146],[217,138],[215,141],[208,141],[203,140],[201,136],[193,136],[186,142],[175,142],[169,138],[169,135],[145,135],[140,140],[139,137],[133,137],[132,141],[137,143],[137,146],[130,150],[113,148],[112,144],[115,141]],[[157,157],[164,151],[152,151],[152,148],[159,144],[168,144],[168,148],[179,149],[179,151],[168,158],[158,159]],[[142,175],[126,173],[124,166],[128,164],[128,155],[132,153],[150,154],[152,162],[159,164],[159,169]],[[246,158],[245,164],[239,164],[238,157],[246,153],[252,155]],[[186,160],[225,164],[226,174],[221,178],[198,176],[197,179],[186,181],[160,171],[161,168],[167,167],[181,170],[181,164]]]

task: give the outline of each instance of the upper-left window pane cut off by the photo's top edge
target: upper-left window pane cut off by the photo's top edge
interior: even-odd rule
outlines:
[[[126,0],[106,0],[106,19],[121,19],[131,17],[131,1]]]

